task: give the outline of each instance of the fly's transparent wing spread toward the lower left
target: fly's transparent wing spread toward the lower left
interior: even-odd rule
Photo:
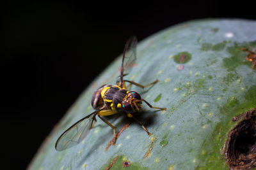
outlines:
[[[58,151],[66,150],[80,143],[88,134],[93,125],[93,120],[97,111],[82,118],[76,124],[72,125],[67,131],[61,134],[56,141],[55,149]]]

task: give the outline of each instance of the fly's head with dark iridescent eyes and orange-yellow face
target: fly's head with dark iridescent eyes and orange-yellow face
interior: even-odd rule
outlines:
[[[137,92],[131,91],[126,94],[122,101],[122,110],[134,113],[141,110],[141,97]]]

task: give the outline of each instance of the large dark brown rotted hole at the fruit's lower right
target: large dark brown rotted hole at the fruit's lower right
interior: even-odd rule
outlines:
[[[243,120],[228,132],[225,159],[230,169],[256,167],[256,108],[247,111]]]

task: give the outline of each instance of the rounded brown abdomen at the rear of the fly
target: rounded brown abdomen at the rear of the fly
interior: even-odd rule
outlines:
[[[103,98],[101,96],[101,92],[105,87],[111,87],[111,85],[102,85],[102,87],[99,87],[99,89],[95,90],[95,92],[92,95],[92,108],[97,110],[101,108],[104,104]]]

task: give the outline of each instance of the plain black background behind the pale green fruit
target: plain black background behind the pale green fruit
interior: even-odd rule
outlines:
[[[140,41],[198,18],[256,19],[250,1],[7,1],[1,8],[0,155],[5,169],[28,166],[52,127],[122,53],[129,36]]]

